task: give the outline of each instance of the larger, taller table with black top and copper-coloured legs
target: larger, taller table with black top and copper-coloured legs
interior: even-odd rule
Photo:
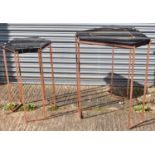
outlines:
[[[114,52],[115,48],[129,49],[129,67],[128,81],[130,81],[130,97],[129,97],[129,113],[128,127],[131,128],[131,113],[133,109],[133,81],[134,81],[134,65],[136,49],[140,46],[147,45],[146,71],[144,80],[144,96],[142,108],[142,120],[144,119],[144,105],[146,99],[147,81],[148,81],[148,65],[151,41],[143,33],[133,27],[124,26],[104,26],[76,33],[76,80],[77,80],[77,107],[80,118],[83,118],[81,108],[81,92],[80,92],[80,45],[99,45],[112,47],[112,73],[111,73],[111,93],[114,76]]]

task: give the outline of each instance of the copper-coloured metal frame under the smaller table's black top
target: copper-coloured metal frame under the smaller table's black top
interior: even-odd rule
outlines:
[[[50,49],[50,64],[51,64],[51,80],[52,80],[52,105],[56,106],[56,89],[55,89],[55,81],[54,81],[54,65],[53,65],[53,51],[52,51],[52,46],[51,44],[49,45]],[[4,59],[4,67],[5,67],[5,77],[7,80],[7,86],[8,86],[8,96],[9,100],[12,101],[11,98],[11,84],[9,81],[9,75],[8,75],[8,65],[7,65],[7,60],[6,60],[6,50],[8,49],[2,49],[3,50],[3,59]],[[17,85],[18,85],[18,96],[19,96],[19,102],[20,104],[23,105],[24,107],[24,118],[26,122],[29,121],[36,121],[36,120],[41,120],[46,118],[46,89],[45,89],[45,80],[44,80],[44,70],[43,70],[43,60],[42,60],[42,50],[41,48],[38,49],[38,63],[39,63],[39,70],[40,70],[40,81],[41,81],[41,95],[42,95],[42,113],[43,113],[43,118],[35,119],[35,120],[28,120],[28,113],[26,111],[26,106],[25,106],[25,97],[24,97],[24,89],[23,89],[23,83],[22,83],[22,75],[21,75],[21,67],[20,67],[20,60],[19,60],[19,52],[18,51],[13,51],[14,54],[14,60],[16,64],[16,77],[17,77]]]

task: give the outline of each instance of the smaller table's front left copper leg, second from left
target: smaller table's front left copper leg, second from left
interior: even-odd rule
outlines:
[[[19,100],[20,100],[20,103],[24,106],[24,119],[27,122],[27,113],[26,113],[26,107],[25,107],[25,98],[24,98],[24,92],[23,92],[19,54],[16,51],[14,51],[14,59],[16,64],[16,77],[17,77],[17,84],[18,84]]]

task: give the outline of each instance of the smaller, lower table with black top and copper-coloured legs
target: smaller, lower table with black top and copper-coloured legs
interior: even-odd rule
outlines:
[[[56,106],[56,96],[55,96],[55,82],[54,82],[54,66],[53,66],[53,52],[52,52],[52,42],[50,40],[46,40],[39,37],[29,37],[23,39],[14,39],[9,41],[6,44],[1,45],[2,52],[3,52],[3,59],[4,59],[4,66],[5,66],[5,76],[8,85],[8,97],[9,101],[12,102],[11,97],[11,84],[8,76],[8,65],[6,59],[6,52],[12,52],[14,56],[14,61],[16,64],[16,77],[17,77],[17,85],[18,85],[18,95],[20,105],[24,106],[24,118],[25,121],[29,121],[27,117],[27,111],[25,108],[25,98],[24,98],[24,90],[23,90],[23,82],[22,82],[22,74],[21,74],[21,67],[19,61],[19,55],[22,53],[38,53],[38,63],[39,63],[39,70],[40,70],[40,81],[41,81],[41,95],[42,95],[42,114],[43,118],[46,117],[46,90],[45,90],[45,80],[44,80],[44,69],[43,69],[43,60],[42,60],[42,52],[43,49],[49,48],[50,49],[50,64],[51,64],[51,80],[52,80],[52,96],[53,101],[52,105]],[[32,66],[33,68],[33,66]],[[19,106],[20,106],[19,105]]]

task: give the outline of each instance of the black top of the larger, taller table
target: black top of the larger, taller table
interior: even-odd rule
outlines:
[[[76,33],[80,41],[110,44],[111,46],[146,45],[150,39],[134,27],[104,26]]]

